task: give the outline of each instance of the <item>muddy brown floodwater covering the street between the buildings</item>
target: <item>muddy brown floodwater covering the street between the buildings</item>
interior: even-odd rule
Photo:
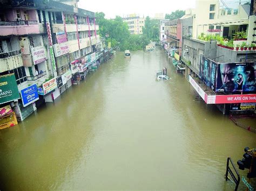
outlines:
[[[241,159],[256,134],[196,101],[164,51],[131,56],[118,52],[55,103],[0,131],[1,187],[232,189],[226,159]],[[156,81],[163,67],[171,80]]]

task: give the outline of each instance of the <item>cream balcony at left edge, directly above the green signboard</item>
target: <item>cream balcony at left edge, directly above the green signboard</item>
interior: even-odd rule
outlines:
[[[21,51],[0,54],[0,73],[23,66]]]

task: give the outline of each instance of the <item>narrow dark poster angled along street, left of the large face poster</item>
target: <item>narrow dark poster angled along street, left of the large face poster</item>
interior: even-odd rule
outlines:
[[[213,91],[215,91],[215,79],[217,72],[217,63],[201,56],[200,60],[200,79],[203,81],[206,86],[210,87]]]

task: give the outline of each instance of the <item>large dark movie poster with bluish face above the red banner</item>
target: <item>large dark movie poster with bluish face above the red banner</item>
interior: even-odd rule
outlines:
[[[218,67],[217,92],[255,91],[256,65],[254,62],[221,63]]]

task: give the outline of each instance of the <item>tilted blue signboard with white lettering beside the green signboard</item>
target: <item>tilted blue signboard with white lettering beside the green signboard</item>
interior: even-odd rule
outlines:
[[[21,97],[24,107],[31,104],[32,102],[39,100],[36,84],[33,84],[32,86],[22,89]]]

